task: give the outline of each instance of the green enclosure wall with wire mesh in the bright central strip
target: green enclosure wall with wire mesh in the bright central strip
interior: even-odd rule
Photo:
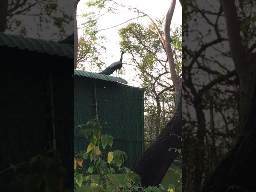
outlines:
[[[74,127],[94,118],[94,90],[96,89],[98,119],[102,134],[114,137],[112,151],[119,149],[128,155],[125,166],[132,169],[144,150],[143,90],[92,78],[74,78]],[[76,136],[74,148],[86,150],[88,142]],[[106,151],[109,151],[106,148]]]

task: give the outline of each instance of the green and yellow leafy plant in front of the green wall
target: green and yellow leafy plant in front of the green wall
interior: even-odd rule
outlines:
[[[143,188],[140,186],[140,177],[124,166],[127,159],[125,152],[114,150],[107,153],[103,159],[102,154],[106,146],[112,147],[113,137],[102,135],[102,126],[98,119],[78,126],[79,134],[84,136],[90,144],[86,150],[74,156],[74,188],[88,184],[93,192],[166,192],[174,191],[174,185],[165,189],[160,187]],[[86,161],[89,163],[86,167]],[[98,174],[95,178],[93,174]],[[176,190],[178,191],[178,190]]]

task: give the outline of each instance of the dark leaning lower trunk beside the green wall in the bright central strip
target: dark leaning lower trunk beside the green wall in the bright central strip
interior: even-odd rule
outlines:
[[[144,187],[159,186],[168,168],[178,157],[175,148],[181,149],[182,100],[172,120],[168,122],[157,140],[142,154],[134,172],[141,177]]]

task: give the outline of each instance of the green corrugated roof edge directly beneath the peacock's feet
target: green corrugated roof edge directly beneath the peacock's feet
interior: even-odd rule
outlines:
[[[80,70],[76,70],[76,69],[74,69],[74,75],[93,78],[93,79],[99,79],[99,80],[104,80],[104,81],[124,83],[124,84],[128,83],[126,80],[119,78],[119,77],[113,77],[113,76],[109,76],[109,75],[92,73],[92,72],[87,72],[87,71],[80,71]]]

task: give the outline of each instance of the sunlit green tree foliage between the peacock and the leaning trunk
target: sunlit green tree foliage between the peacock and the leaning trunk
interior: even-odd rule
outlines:
[[[158,28],[163,28],[164,19],[156,20]],[[178,75],[182,71],[182,27],[171,30],[172,50]],[[155,140],[174,113],[174,87],[170,76],[170,67],[167,56],[155,28],[149,24],[147,27],[139,23],[130,23],[119,31],[120,46],[130,55],[130,65],[140,78],[145,96],[145,118],[155,122],[154,129],[146,128],[150,140]],[[163,110],[165,107],[165,110]],[[154,133],[152,132],[154,130]]]

